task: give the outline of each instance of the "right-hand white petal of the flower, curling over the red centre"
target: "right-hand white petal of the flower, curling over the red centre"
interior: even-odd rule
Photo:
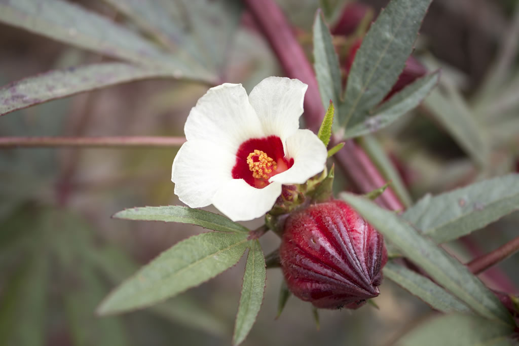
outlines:
[[[324,169],[328,152],[323,142],[310,130],[297,130],[286,139],[288,156],[294,165],[269,179],[281,184],[303,184]]]

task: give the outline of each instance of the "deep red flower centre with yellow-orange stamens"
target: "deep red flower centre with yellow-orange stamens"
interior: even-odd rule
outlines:
[[[283,143],[278,136],[254,138],[243,142],[236,151],[232,175],[247,184],[262,189],[271,176],[292,167],[294,159],[285,157]]]

